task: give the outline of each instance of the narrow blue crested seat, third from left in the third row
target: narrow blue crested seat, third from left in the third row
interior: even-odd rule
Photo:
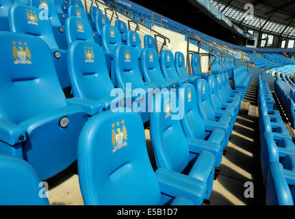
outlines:
[[[107,56],[110,57],[110,74],[115,87],[118,87],[118,82],[114,73],[114,49],[118,45],[122,45],[120,31],[118,28],[111,25],[104,25],[101,35],[101,46]]]

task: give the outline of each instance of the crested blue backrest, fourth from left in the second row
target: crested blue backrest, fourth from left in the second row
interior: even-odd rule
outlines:
[[[141,66],[144,81],[159,83],[165,81],[162,75],[161,67],[159,66],[159,55],[155,49],[142,49]]]

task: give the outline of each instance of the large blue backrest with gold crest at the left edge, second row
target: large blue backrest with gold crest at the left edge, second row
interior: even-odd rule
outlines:
[[[51,51],[44,41],[28,34],[1,32],[0,47],[1,118],[18,124],[66,106]]]

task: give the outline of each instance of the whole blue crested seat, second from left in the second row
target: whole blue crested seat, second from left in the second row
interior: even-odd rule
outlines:
[[[103,49],[98,44],[83,40],[70,44],[68,70],[75,97],[69,101],[84,108],[88,115],[110,110],[110,107],[125,107],[125,94],[110,95],[114,85],[107,71]],[[127,97],[131,99],[131,94]],[[89,106],[91,110],[88,110]]]

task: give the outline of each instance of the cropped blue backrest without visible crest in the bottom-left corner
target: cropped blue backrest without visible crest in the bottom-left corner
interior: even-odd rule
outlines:
[[[36,170],[25,160],[0,155],[0,177],[0,205],[49,205]]]

